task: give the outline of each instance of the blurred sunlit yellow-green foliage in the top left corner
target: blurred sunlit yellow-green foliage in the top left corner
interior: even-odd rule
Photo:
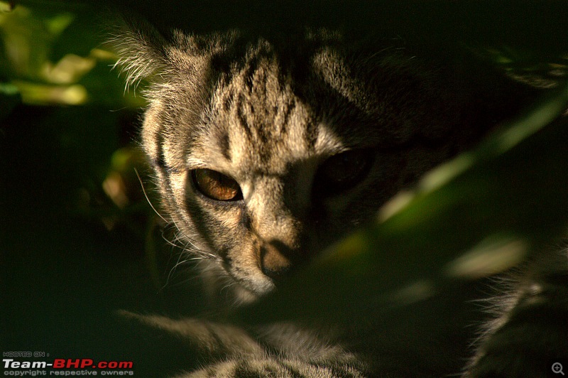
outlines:
[[[18,87],[26,104],[102,104],[140,107],[125,93],[116,56],[100,47],[102,19],[80,3],[26,1],[0,13],[0,77]]]

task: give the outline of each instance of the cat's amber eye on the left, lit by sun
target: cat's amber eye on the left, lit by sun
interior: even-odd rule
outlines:
[[[234,179],[211,169],[195,169],[193,182],[197,190],[213,200],[236,201],[242,198],[241,188]]]

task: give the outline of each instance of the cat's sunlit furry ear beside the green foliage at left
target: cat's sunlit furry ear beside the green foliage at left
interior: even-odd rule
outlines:
[[[126,75],[126,87],[163,72],[168,41],[149,23],[133,16],[114,18],[107,43],[118,55],[114,68]]]

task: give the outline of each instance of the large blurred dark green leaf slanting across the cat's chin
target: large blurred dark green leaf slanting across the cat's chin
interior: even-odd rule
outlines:
[[[564,87],[472,153],[426,175],[416,193],[387,204],[373,225],[237,318],[356,322],[537,254],[568,231],[568,124],[553,121],[567,103]]]

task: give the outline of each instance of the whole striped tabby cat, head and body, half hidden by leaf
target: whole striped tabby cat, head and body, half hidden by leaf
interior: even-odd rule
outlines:
[[[150,83],[142,92],[148,107],[141,145],[160,215],[199,259],[215,309],[208,319],[123,315],[190,340],[202,364],[187,376],[515,376],[531,366],[503,357],[515,315],[537,312],[546,303],[540,298],[557,296],[564,302],[554,316],[566,318],[566,254],[554,254],[554,263],[535,263],[511,281],[506,305],[469,364],[463,352],[446,355],[435,340],[413,349],[420,335],[408,329],[420,328],[410,325],[420,320],[412,307],[390,319],[403,319],[402,333],[384,324],[377,330],[374,320],[347,332],[226,323],[219,315],[225,308],[273,293],[298,266],[373,220],[389,198],[474,146],[538,91],[460,50],[402,38],[327,29],[163,36],[140,21],[126,21],[117,35],[127,86]],[[527,340],[535,340],[540,328],[527,329]],[[562,325],[555,331],[568,335]]]

